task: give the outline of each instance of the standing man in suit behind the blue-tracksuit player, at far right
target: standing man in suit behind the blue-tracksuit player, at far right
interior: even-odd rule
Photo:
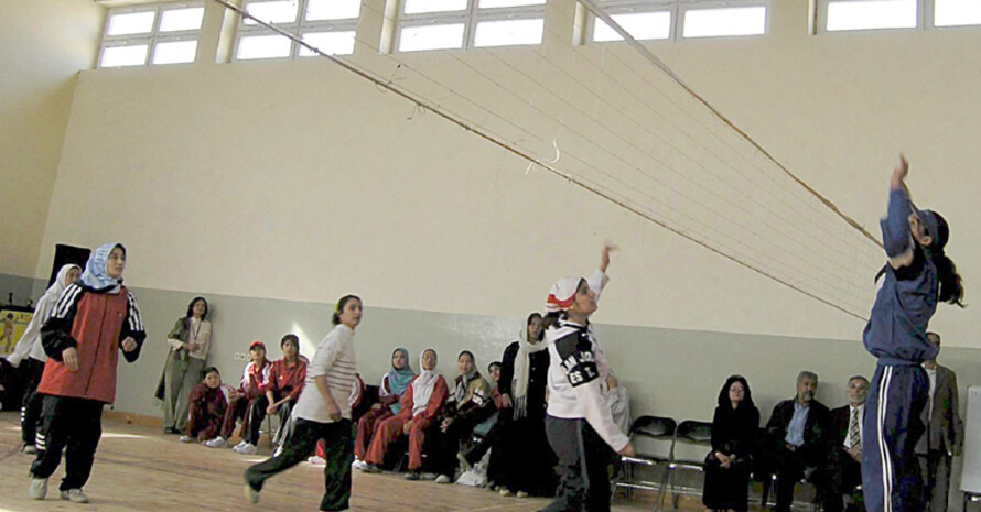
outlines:
[[[940,335],[927,333],[927,340],[940,348]],[[927,432],[916,445],[919,467],[923,470],[924,503],[929,512],[947,512],[947,494],[950,492],[950,462],[963,448],[964,427],[958,413],[957,374],[937,360],[924,361],[924,370],[930,379],[930,394],[923,411]]]

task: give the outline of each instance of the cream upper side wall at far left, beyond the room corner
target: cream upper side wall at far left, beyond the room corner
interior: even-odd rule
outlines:
[[[76,73],[95,64],[104,17],[88,0],[0,2],[0,274],[34,275]]]

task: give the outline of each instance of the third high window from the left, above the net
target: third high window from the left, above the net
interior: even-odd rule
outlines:
[[[399,52],[541,44],[546,0],[403,0]]]

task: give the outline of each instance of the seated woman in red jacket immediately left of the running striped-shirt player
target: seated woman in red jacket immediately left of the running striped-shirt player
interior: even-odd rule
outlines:
[[[269,369],[269,383],[266,386],[266,414],[279,415],[279,429],[276,431],[272,444],[279,447],[290,432],[290,413],[306,380],[306,364],[310,362],[300,356],[300,338],[289,334],[279,342],[282,359],[272,361]]]

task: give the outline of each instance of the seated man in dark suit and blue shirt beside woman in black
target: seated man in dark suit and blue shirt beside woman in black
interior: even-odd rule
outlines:
[[[766,424],[772,457],[777,475],[777,512],[789,512],[794,486],[827,458],[828,407],[815,400],[818,375],[801,371],[797,375],[797,396],[778,403]]]

